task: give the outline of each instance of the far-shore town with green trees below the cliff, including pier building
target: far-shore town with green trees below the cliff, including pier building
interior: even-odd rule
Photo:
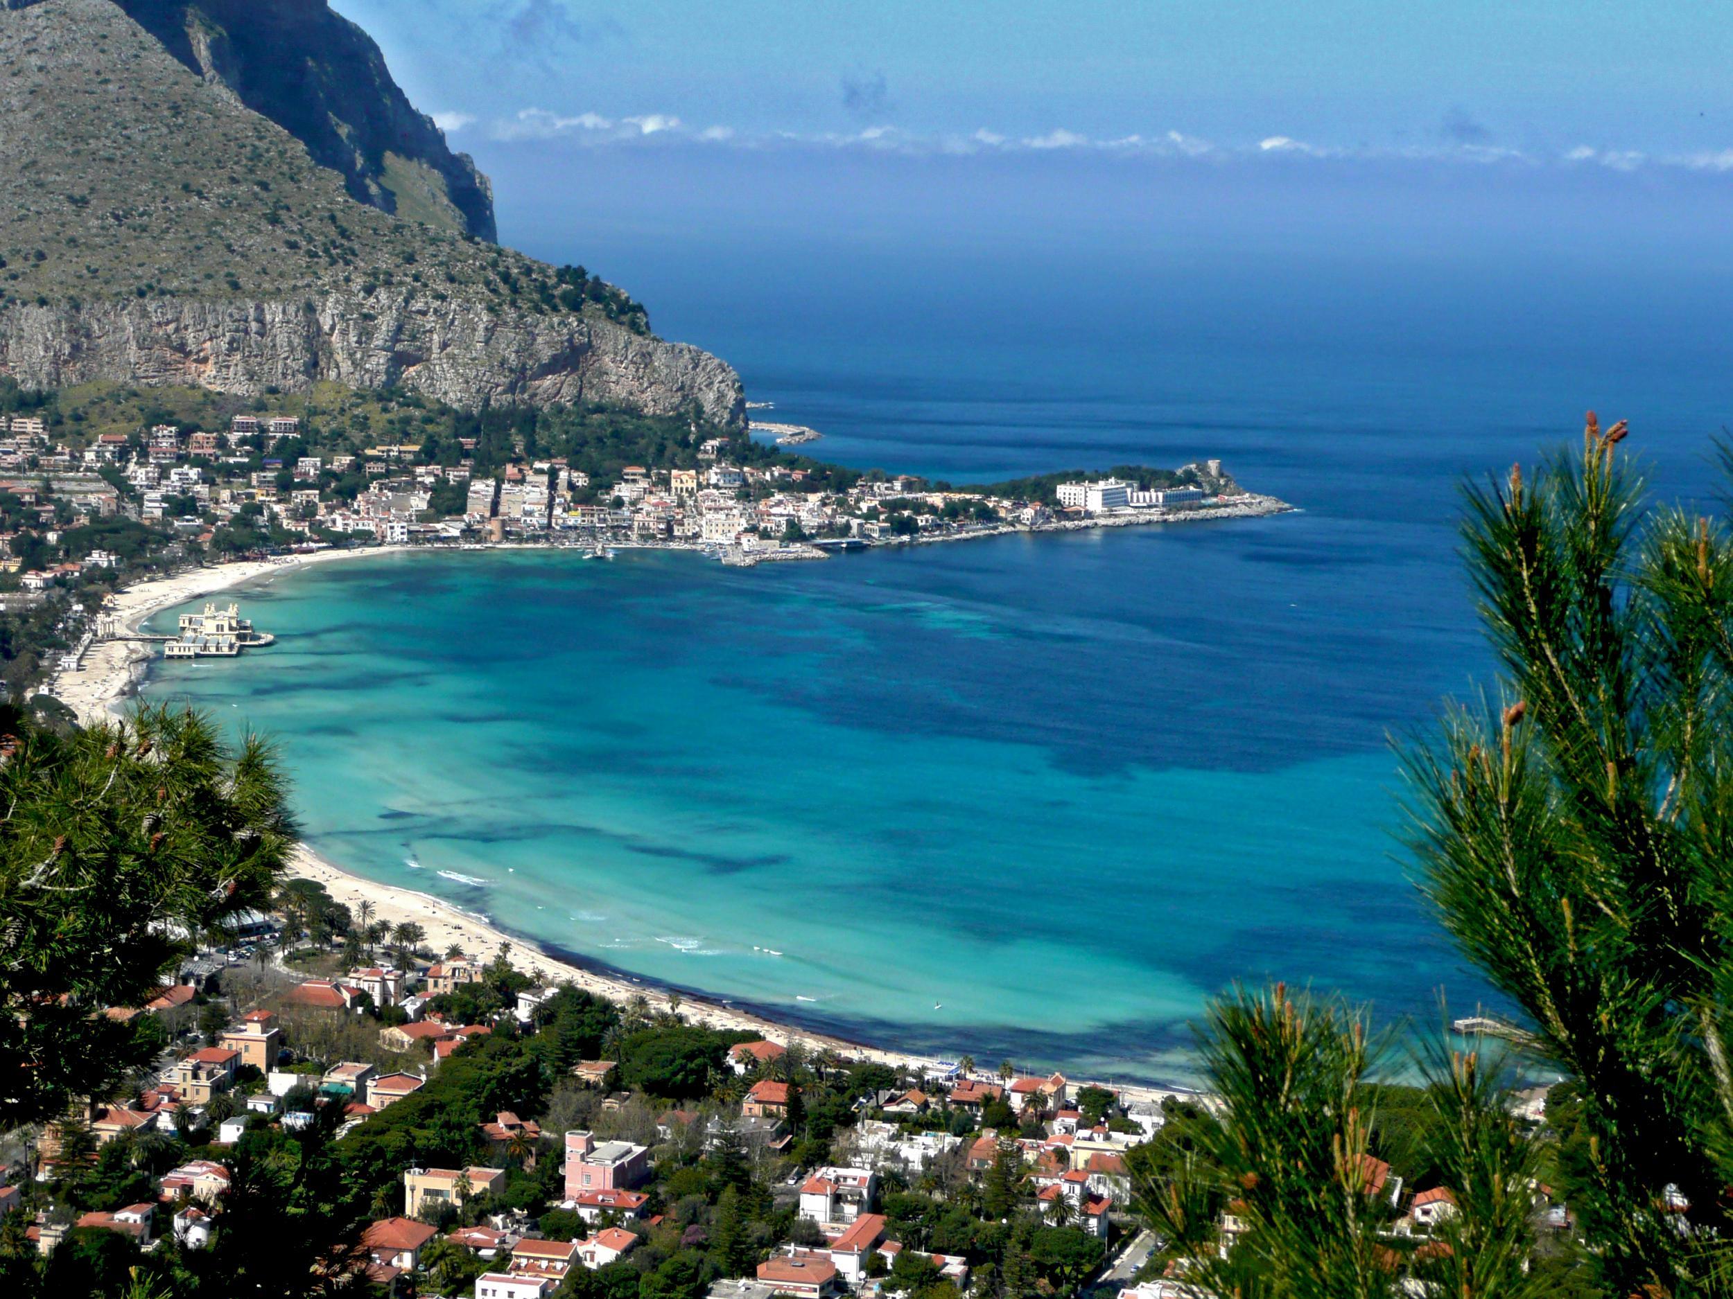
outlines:
[[[12,689],[78,674],[94,646],[116,639],[159,639],[172,658],[267,644],[237,611],[227,613],[234,625],[217,606],[185,615],[166,636],[114,603],[140,580],[234,561],[535,546],[574,559],[676,549],[750,568],[1291,509],[1244,490],[1213,459],[958,487],[808,461],[776,445],[787,433],[766,442],[775,430],[612,410],[478,419],[409,393],[326,393],[288,414],[201,393],[165,423],[154,397],[87,400],[0,390],[0,627]],[[52,708],[68,691],[88,693],[57,679],[36,698]]]

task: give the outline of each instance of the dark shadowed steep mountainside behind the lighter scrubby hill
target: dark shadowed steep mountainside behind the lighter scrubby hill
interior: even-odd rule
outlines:
[[[324,0],[116,0],[182,64],[232,90],[343,177],[350,197],[494,239],[494,192]]]

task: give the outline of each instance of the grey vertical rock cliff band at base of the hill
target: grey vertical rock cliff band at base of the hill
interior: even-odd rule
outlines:
[[[740,378],[707,352],[582,317],[501,315],[406,293],[319,301],[99,301],[0,312],[0,374],[256,395],[331,379],[406,385],[458,407],[603,402],[738,424]]]

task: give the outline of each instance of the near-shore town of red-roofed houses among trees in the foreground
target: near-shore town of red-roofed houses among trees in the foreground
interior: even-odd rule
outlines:
[[[144,1005],[102,1008],[151,1063],[12,1134],[12,1247],[50,1278],[61,1251],[213,1278],[267,1249],[322,1292],[451,1299],[1211,1299],[1140,1204],[1208,1096],[892,1067],[428,939],[296,878]],[[1546,1089],[1518,1103],[1542,1131]],[[279,1230],[338,1195],[321,1176],[359,1221]],[[1373,1155],[1360,1176],[1392,1257],[1440,1247],[1447,1185]],[[1570,1207],[1532,1197],[1567,1238]],[[1243,1233],[1223,1202],[1211,1251]]]

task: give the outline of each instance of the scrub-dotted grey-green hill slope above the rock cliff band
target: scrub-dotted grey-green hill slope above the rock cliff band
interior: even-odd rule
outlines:
[[[650,329],[639,303],[579,267],[355,203],[300,140],[107,0],[0,19],[0,310],[392,289]]]

